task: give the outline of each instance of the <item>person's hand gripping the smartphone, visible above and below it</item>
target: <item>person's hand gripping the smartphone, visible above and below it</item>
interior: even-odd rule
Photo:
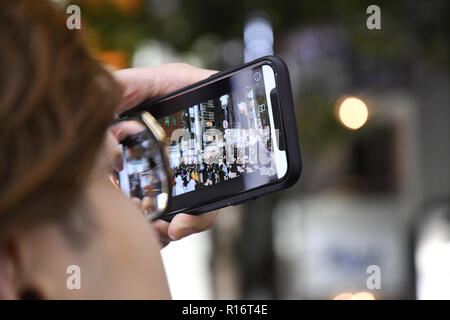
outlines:
[[[139,103],[158,97],[197,81],[203,80],[216,71],[200,69],[185,63],[172,63],[158,67],[124,69],[114,72],[114,76],[124,89],[123,100],[117,112],[121,113]],[[122,169],[122,154],[120,152],[117,136],[113,132],[107,134],[107,147],[110,162],[116,170]],[[146,210],[148,203],[145,198],[132,199],[141,208]],[[163,246],[172,240],[179,240],[193,233],[209,229],[218,211],[204,213],[198,216],[177,214],[170,223],[157,220],[152,223],[159,233]]]

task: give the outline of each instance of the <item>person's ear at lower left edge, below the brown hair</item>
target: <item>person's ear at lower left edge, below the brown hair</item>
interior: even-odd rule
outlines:
[[[19,297],[14,280],[14,252],[13,246],[7,244],[0,248],[0,299],[11,300]]]

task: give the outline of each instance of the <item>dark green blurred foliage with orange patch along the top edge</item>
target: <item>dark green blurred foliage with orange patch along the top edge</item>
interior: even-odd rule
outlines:
[[[449,67],[448,2],[378,1],[382,30],[367,32],[371,1],[273,0],[77,0],[83,18],[102,50],[125,50],[129,56],[143,39],[160,39],[179,51],[192,50],[200,37],[225,41],[241,38],[245,21],[255,12],[271,20],[275,38],[304,26],[343,27],[363,55],[381,60],[423,57]],[[382,61],[383,62],[383,61]]]

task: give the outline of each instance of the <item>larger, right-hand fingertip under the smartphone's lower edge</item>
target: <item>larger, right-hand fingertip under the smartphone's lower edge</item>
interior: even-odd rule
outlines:
[[[209,229],[216,220],[218,210],[198,216],[180,213],[169,224],[168,235],[172,240],[179,240],[188,235]]]

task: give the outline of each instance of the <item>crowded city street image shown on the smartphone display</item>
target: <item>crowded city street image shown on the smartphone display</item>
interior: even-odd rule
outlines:
[[[174,196],[243,175],[276,174],[261,71],[246,87],[160,120],[170,137]]]

